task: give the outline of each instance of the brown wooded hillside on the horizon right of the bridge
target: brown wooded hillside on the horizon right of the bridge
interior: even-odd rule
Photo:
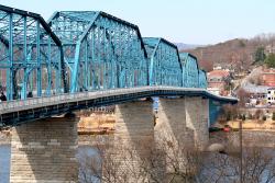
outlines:
[[[221,65],[227,68],[232,68],[235,71],[248,70],[254,62],[254,55],[258,47],[264,47],[265,53],[275,52],[274,34],[261,35],[251,39],[235,38],[219,43],[197,47],[195,49],[182,49],[195,55],[201,68],[209,71],[213,65]]]

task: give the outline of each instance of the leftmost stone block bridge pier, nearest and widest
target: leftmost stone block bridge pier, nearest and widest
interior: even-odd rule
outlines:
[[[77,182],[77,122],[70,114],[13,127],[10,182]]]

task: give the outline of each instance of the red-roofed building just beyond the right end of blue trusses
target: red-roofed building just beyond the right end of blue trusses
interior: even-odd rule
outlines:
[[[208,90],[216,94],[228,95],[227,88],[231,82],[231,75],[228,70],[212,70],[208,72]]]

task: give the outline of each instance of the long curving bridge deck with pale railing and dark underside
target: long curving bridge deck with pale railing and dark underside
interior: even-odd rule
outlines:
[[[178,87],[139,87],[79,92],[25,101],[0,103],[0,126],[13,126],[37,118],[61,115],[92,106],[112,105],[151,96],[202,96],[221,103],[237,103],[234,98],[215,95],[205,89]]]

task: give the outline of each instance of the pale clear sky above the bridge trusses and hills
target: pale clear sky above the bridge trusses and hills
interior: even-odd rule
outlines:
[[[275,0],[0,0],[40,13],[91,10],[139,25],[142,36],[187,44],[216,44],[275,33]]]

